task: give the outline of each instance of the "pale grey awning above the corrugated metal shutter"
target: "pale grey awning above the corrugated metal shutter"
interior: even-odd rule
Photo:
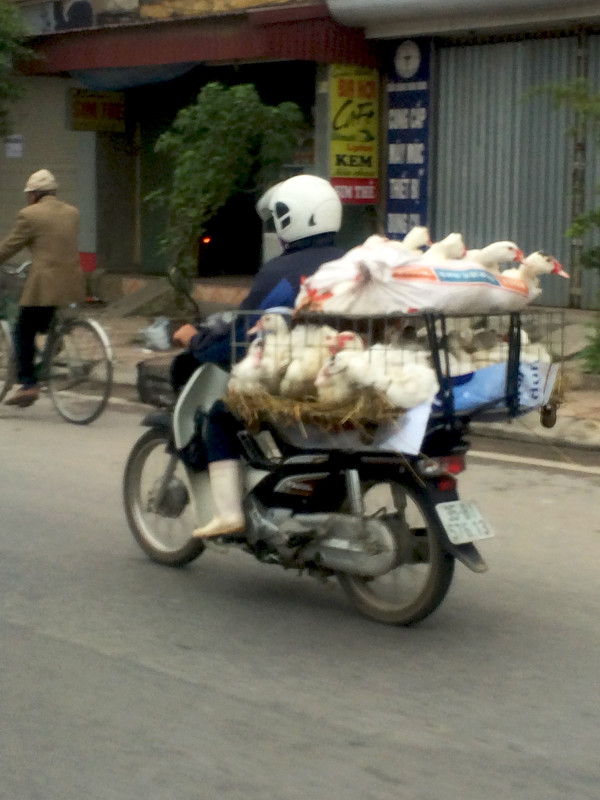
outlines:
[[[600,22],[600,3],[577,0],[326,0],[367,38],[528,31]]]

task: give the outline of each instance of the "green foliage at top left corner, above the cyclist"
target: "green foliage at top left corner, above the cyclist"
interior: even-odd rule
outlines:
[[[0,135],[10,131],[8,106],[23,95],[22,84],[15,81],[15,63],[33,56],[26,36],[19,9],[0,0]]]

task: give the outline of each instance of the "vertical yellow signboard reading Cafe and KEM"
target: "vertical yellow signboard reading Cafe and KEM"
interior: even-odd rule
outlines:
[[[329,177],[343,203],[378,199],[379,76],[345,64],[329,67]]]

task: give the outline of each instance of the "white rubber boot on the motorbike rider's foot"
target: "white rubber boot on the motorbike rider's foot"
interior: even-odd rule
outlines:
[[[242,512],[240,462],[237,459],[213,461],[208,465],[208,474],[216,516],[207,525],[196,528],[192,536],[206,539],[209,536],[240,533],[246,527]]]

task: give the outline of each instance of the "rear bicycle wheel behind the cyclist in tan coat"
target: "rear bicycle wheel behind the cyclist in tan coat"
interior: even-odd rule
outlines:
[[[87,425],[106,408],[112,390],[113,357],[95,320],[60,325],[48,355],[47,381],[54,407],[67,422]]]

